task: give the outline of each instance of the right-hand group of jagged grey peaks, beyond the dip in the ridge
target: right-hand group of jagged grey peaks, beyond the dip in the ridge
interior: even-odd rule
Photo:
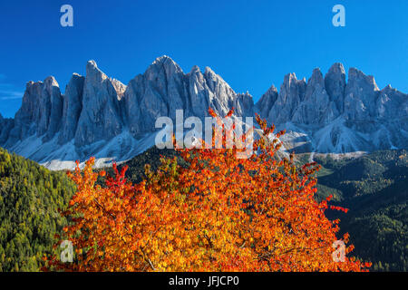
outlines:
[[[267,113],[264,97],[257,110],[287,129],[284,139],[296,152],[346,153],[408,148],[408,95],[373,76],[335,63],[323,79],[316,69],[308,82],[285,77],[277,101]]]

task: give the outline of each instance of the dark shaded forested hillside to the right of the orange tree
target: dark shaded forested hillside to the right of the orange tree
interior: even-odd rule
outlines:
[[[382,150],[355,160],[317,161],[323,165],[318,193],[335,193],[336,205],[350,208],[340,218],[355,255],[373,270],[408,271],[408,157],[406,150]]]

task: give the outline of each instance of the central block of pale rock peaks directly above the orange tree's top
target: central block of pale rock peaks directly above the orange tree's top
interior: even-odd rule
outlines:
[[[209,107],[224,116],[234,107],[238,116],[252,115],[254,103],[249,94],[237,94],[209,67],[201,73],[194,66],[183,73],[168,56],[158,58],[146,73],[129,82],[123,97],[126,123],[135,138],[143,132],[155,131],[160,116],[176,118],[176,110],[184,117],[208,116]]]

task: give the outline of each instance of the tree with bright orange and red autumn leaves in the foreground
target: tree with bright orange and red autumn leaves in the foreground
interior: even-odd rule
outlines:
[[[217,118],[213,111],[210,113]],[[232,112],[228,113],[230,116]],[[238,159],[234,146],[180,150],[160,169],[131,184],[126,167],[96,185],[94,159],[70,173],[77,185],[62,240],[73,242],[74,262],[50,261],[73,271],[361,271],[369,266],[349,253],[335,262],[339,220],[325,218],[328,201],[316,202],[316,163],[296,167],[275,128],[257,116],[262,138]],[[215,130],[226,136],[219,122]],[[246,135],[235,136],[246,140]],[[225,138],[223,141],[225,142]],[[204,141],[202,140],[204,143]],[[214,142],[214,139],[213,139]],[[205,146],[202,146],[203,148]],[[187,164],[187,165],[185,165]],[[344,208],[335,208],[342,209]],[[348,235],[342,237],[345,244]]]

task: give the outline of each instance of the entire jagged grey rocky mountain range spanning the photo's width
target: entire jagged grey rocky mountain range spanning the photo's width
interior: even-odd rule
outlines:
[[[72,169],[75,160],[96,157],[97,166],[129,160],[154,145],[158,117],[208,115],[208,108],[237,116],[257,112],[277,129],[287,150],[353,153],[408,148],[408,95],[390,85],[380,90],[373,76],[341,63],[309,80],[288,73],[254,103],[234,92],[209,67],[183,73],[168,56],[156,59],[127,85],[90,61],[86,76],[74,73],[61,92],[58,82],[27,82],[14,119],[0,115],[0,146],[49,169]]]

